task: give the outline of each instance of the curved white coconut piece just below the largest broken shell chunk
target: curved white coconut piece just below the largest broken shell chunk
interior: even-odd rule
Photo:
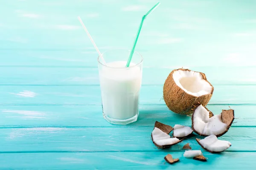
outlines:
[[[198,144],[201,145],[205,150],[216,153],[222,152],[231,146],[231,143],[228,141],[218,140],[215,135],[207,136],[204,139],[195,139]]]

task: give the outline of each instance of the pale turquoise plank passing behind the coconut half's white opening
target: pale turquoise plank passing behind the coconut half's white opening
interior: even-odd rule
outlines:
[[[0,67],[0,85],[97,85],[95,67]],[[181,68],[181,67],[180,67]],[[143,85],[163,85],[175,67],[143,69]],[[256,67],[191,67],[207,75],[212,85],[256,85]],[[245,74],[246,73],[246,74]],[[10,78],[11,77],[11,78]]]

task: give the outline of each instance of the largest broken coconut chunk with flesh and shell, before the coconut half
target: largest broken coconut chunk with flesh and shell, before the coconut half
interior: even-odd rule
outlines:
[[[210,117],[209,110],[198,105],[192,115],[192,129],[201,136],[222,136],[230,128],[234,120],[234,110],[222,110],[222,113]]]

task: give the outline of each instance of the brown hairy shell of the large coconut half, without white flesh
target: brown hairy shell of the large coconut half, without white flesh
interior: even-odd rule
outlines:
[[[178,85],[176,85],[173,79],[173,73],[178,70],[191,71],[189,69],[183,69],[183,68],[173,70],[169,74],[169,76],[167,77],[163,85],[163,99],[171,111],[181,115],[191,115],[193,113],[192,108],[194,108],[194,106],[197,105],[198,102],[204,106],[208,104],[209,100],[212,97],[214,88],[207,81],[205,74],[198,72],[202,75],[203,79],[212,86],[212,91],[210,94],[202,95],[199,97],[193,96],[191,94],[187,94]]]

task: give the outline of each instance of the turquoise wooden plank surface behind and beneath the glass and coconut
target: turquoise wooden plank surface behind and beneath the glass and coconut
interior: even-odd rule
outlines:
[[[136,47],[144,57],[140,115],[126,126],[102,117],[97,53],[130,49],[155,0],[3,0],[0,5],[0,169],[255,169],[256,1],[162,0]],[[235,110],[211,154],[196,135],[157,149],[154,122],[191,125],[166,107],[163,83],[175,68],[204,72],[215,88],[207,106]],[[184,144],[207,162],[186,159]],[[168,153],[180,162],[170,165]]]

